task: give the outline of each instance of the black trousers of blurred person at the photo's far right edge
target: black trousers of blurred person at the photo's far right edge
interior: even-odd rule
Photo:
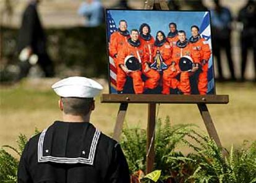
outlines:
[[[250,48],[254,52],[254,77],[256,80],[256,30],[248,30],[241,33],[241,79],[244,80],[247,65],[247,54]]]

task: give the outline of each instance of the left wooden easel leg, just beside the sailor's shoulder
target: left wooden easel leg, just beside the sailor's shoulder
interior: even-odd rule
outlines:
[[[114,134],[113,138],[117,142],[119,142],[119,138],[122,132],[122,126],[124,124],[124,117],[126,117],[126,111],[128,108],[128,103],[121,103],[119,107],[119,111],[116,117],[116,124],[114,126]]]

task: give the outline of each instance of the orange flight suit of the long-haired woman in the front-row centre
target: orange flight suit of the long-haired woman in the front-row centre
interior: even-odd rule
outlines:
[[[160,51],[164,63],[169,66],[171,64],[172,50],[172,46],[166,41],[163,46],[154,46],[153,57],[156,56],[157,51]],[[177,88],[179,82],[175,78],[176,75],[176,72],[169,70],[169,68],[163,70],[163,94],[169,94],[169,88]]]

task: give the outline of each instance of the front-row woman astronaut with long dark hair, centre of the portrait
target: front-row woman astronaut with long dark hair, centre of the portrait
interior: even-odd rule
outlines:
[[[164,64],[166,64],[166,69],[163,70],[162,93],[169,94],[170,88],[177,88],[178,81],[175,77],[178,73],[176,72],[176,70],[173,70],[174,66],[171,65],[172,64],[172,62],[171,62],[172,61],[171,60],[172,46],[169,44],[168,40],[166,39],[166,36],[164,35],[164,33],[162,31],[158,31],[156,33],[156,41],[154,44],[153,58],[156,57],[157,53],[160,53]]]

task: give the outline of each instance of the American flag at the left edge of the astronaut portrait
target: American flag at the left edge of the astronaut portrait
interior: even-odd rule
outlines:
[[[117,27],[109,11],[106,12],[106,20],[107,20],[108,45],[109,45],[110,36],[113,32],[117,31]],[[116,66],[114,64],[114,59],[111,56],[109,56],[109,79],[110,79],[110,86],[109,86],[110,93],[117,93]]]

